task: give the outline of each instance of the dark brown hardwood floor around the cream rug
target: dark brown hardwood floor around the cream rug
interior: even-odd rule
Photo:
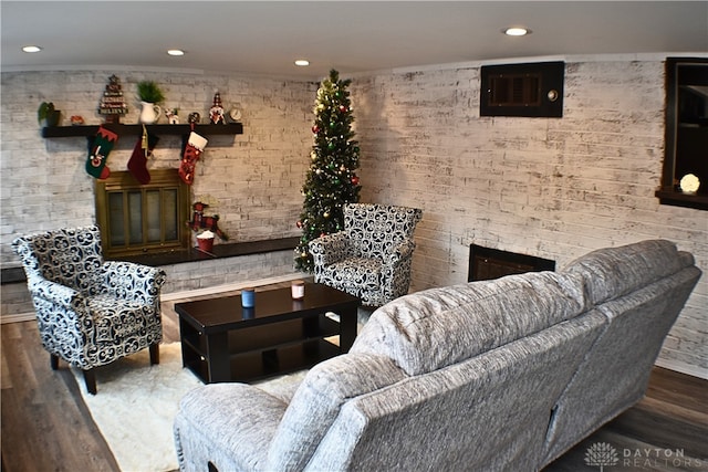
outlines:
[[[174,302],[163,302],[163,312],[164,342],[179,340]],[[2,471],[118,471],[67,366],[51,370],[37,323],[2,325],[1,343]],[[101,395],[100,380],[97,388]],[[606,472],[708,471],[707,400],[708,380],[655,368],[643,401],[545,471],[602,470],[585,464],[587,449],[598,442],[620,457]]]

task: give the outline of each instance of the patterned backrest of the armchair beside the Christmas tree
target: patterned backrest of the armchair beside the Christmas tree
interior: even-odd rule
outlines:
[[[384,259],[400,242],[412,239],[423,211],[375,203],[344,207],[344,231],[351,255]]]

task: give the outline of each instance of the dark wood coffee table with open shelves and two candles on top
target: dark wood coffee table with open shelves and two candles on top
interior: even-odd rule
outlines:
[[[205,384],[312,367],[352,347],[358,303],[339,290],[308,283],[300,301],[292,300],[290,287],[257,290],[254,308],[242,308],[241,295],[175,304],[183,365]]]

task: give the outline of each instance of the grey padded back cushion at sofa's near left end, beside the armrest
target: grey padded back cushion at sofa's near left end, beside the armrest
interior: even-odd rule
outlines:
[[[317,364],[288,406],[264,470],[303,470],[347,399],[404,377],[389,359],[368,354],[347,354]]]

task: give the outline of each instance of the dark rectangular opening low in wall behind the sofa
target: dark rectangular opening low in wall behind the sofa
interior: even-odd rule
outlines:
[[[477,244],[469,247],[468,282],[499,279],[524,272],[554,271],[555,261]]]

